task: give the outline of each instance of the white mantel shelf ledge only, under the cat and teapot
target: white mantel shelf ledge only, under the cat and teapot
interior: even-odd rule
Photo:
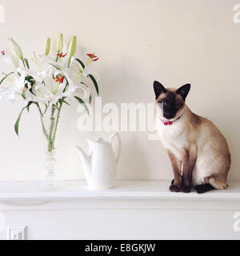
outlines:
[[[205,205],[210,208],[221,203],[222,207],[227,207],[226,202],[239,203],[240,206],[240,182],[229,182],[227,190],[213,190],[205,194],[191,192],[173,193],[168,190],[170,181],[133,181],[118,180],[117,185],[110,190],[93,190],[90,189],[85,181],[59,181],[55,186],[47,186],[46,182],[0,182],[0,210],[24,207],[30,209],[55,208],[56,203],[67,204],[69,202],[81,202],[80,207],[90,206],[90,202],[101,202],[95,204],[95,208],[102,208],[102,203],[107,202],[104,206],[112,208],[111,203],[121,202],[118,206],[126,206],[126,202],[134,201],[134,207],[151,207],[151,201],[171,202],[172,207],[179,207],[181,203],[188,207],[194,208],[194,202],[198,206]],[[139,206],[136,202],[141,203]],[[174,205],[173,202],[178,202]],[[88,203],[87,203],[88,202]],[[148,202],[148,203],[147,203]],[[62,206],[61,206],[62,207]],[[154,204],[156,207],[156,204]],[[183,206],[184,207],[184,206]],[[240,210],[240,208],[239,208]]]

